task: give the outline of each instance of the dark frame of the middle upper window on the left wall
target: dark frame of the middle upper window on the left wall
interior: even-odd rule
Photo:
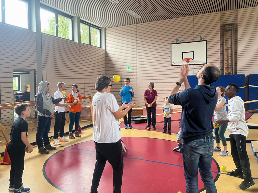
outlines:
[[[3,0],[2,0],[2,1],[3,1]],[[43,33],[43,32],[41,32],[41,30],[40,30],[40,32],[41,32],[42,34],[46,34],[46,35],[48,35],[48,36],[53,36],[53,37],[61,38],[61,39],[64,39],[64,40],[74,41],[74,20],[73,20],[74,17],[73,17],[73,16],[68,15],[68,14],[66,14],[66,13],[63,13],[63,12],[61,12],[61,11],[58,11],[58,10],[52,8],[52,7],[46,6],[46,5],[42,4],[42,3],[40,4],[40,8],[41,8],[41,9],[44,9],[44,10],[46,10],[46,11],[52,12],[52,13],[55,14],[55,36],[54,36],[54,35],[51,35],[51,34]],[[66,17],[66,18],[72,20],[72,22],[71,22],[71,23],[72,23],[72,29],[71,29],[71,31],[72,31],[72,39],[71,39],[71,40],[70,40],[70,39],[66,39],[66,38],[62,38],[62,37],[59,37],[59,36],[58,36],[58,15],[60,15],[60,16],[62,16],[62,17]]]

